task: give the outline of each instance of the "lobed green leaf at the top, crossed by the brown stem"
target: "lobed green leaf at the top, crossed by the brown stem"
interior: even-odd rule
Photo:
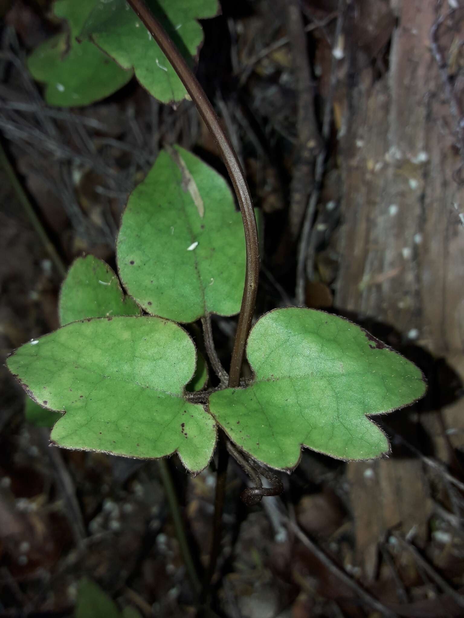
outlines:
[[[189,64],[203,42],[197,19],[217,15],[217,0],[148,0]],[[95,0],[80,38],[90,39],[124,69],[134,69],[135,77],[162,103],[181,101],[187,92],[176,72],[139,18],[129,12],[125,0]]]

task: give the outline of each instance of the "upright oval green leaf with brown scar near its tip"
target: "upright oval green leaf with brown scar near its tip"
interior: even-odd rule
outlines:
[[[117,242],[124,287],[147,313],[193,322],[240,310],[245,237],[228,184],[176,146],[129,197]]]

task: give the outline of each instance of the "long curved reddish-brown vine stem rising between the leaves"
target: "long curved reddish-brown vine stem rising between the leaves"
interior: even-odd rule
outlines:
[[[234,341],[229,374],[229,386],[238,387],[240,384],[240,374],[245,353],[246,340],[251,328],[251,321],[256,304],[259,277],[258,232],[249,188],[233,146],[228,140],[228,137],[221,126],[212,104],[208,101],[205,91],[201,87],[195,75],[192,73],[191,69],[189,69],[189,66],[187,66],[183,56],[179,53],[179,50],[174,45],[173,41],[171,41],[170,37],[166,34],[160,22],[158,22],[150,9],[148,9],[144,0],[128,1],[132,9],[139,16],[140,20],[142,20],[142,23],[144,23],[148,32],[160,46],[161,51],[163,51],[170,64],[173,66],[181,82],[184,84],[184,87],[191,96],[192,101],[194,101],[197,106],[205,125],[207,125],[215,142],[217,143],[238,199],[245,232],[246,272],[242,305],[238,318],[237,332]],[[221,522],[225,497],[227,463],[228,452],[225,447],[225,438],[221,436],[218,447],[218,473],[215,495],[212,550],[210,553],[210,564],[204,582],[203,597],[207,594],[220,550],[222,528]]]

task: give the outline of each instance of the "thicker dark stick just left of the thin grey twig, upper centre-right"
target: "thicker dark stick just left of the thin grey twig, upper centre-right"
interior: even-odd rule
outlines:
[[[296,240],[306,212],[307,199],[314,185],[314,159],[322,150],[323,144],[314,111],[314,80],[309,66],[306,34],[299,0],[288,1],[287,20],[298,93],[298,117],[296,119],[298,140],[294,153],[288,220],[291,238]]]

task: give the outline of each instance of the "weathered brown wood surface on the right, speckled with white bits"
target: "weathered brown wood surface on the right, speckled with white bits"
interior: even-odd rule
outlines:
[[[431,53],[437,3],[361,4],[376,14],[393,12],[397,26],[385,70],[366,61],[359,47],[347,50],[338,96],[344,190],[337,307],[359,318],[375,316],[399,333],[397,345],[414,342],[462,378],[464,188],[453,178],[461,164],[455,120]],[[346,22],[347,39],[356,19],[353,12]],[[396,418],[406,415],[415,438],[425,432],[446,462],[446,430],[462,428],[463,402],[428,410]],[[393,449],[390,459],[350,464],[348,478],[358,559],[374,577],[377,544],[389,530],[414,528],[416,543],[425,540],[431,499],[423,464]]]

